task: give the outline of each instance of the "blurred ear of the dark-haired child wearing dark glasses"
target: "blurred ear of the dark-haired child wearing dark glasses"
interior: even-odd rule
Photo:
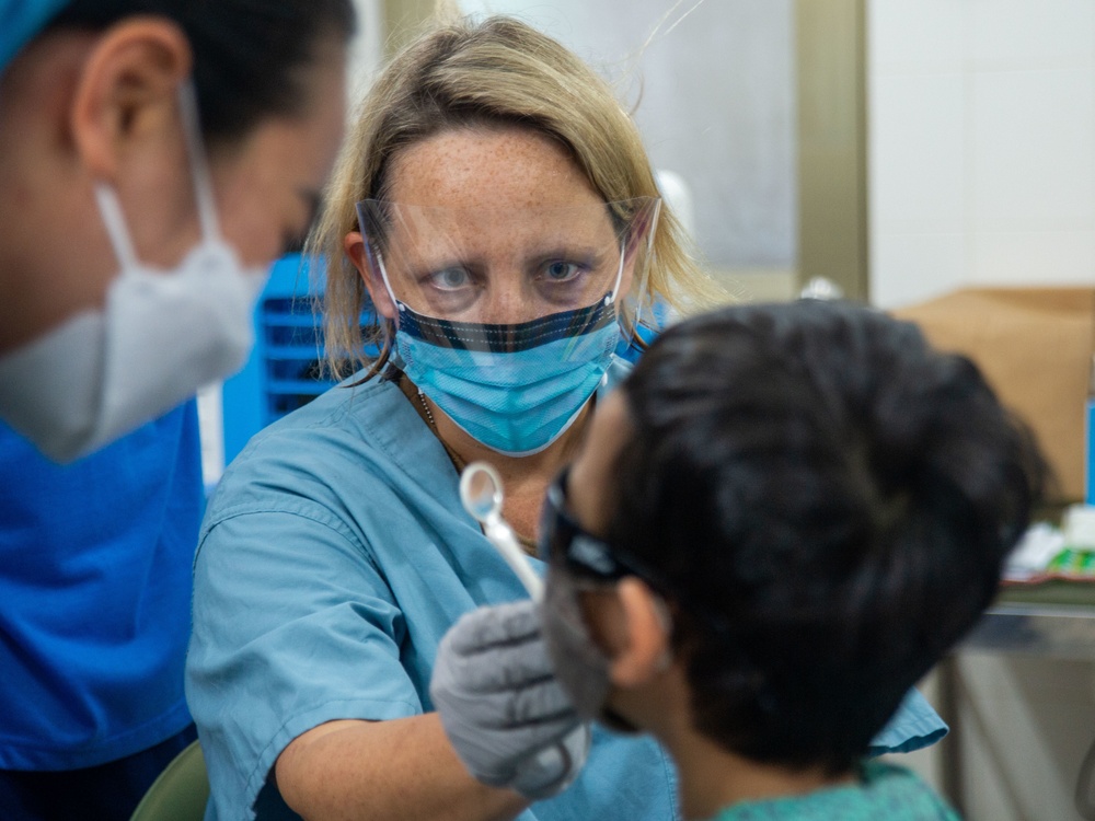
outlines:
[[[671,626],[661,598],[634,576],[620,580],[616,600],[616,647],[609,674],[616,686],[635,687],[665,672]]]

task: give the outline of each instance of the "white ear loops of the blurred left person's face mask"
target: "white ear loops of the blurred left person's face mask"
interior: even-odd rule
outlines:
[[[197,201],[198,221],[201,226],[203,239],[220,240],[220,222],[217,219],[217,204],[212,196],[209,181],[209,165],[206,161],[205,146],[201,142],[201,128],[198,123],[197,96],[191,82],[178,88],[178,107],[183,120],[183,131],[186,139],[186,153],[191,163],[191,180],[194,183],[194,196]],[[134,248],[129,232],[126,230],[125,215],[118,203],[114,188],[105,183],[95,183],[95,199],[103,215],[106,233],[111,238],[114,253],[123,270],[131,270],[140,265]]]

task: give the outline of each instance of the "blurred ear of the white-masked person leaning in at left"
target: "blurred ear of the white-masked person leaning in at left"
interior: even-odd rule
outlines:
[[[177,91],[191,66],[186,35],[163,18],[124,21],[96,41],[70,113],[73,144],[92,176],[113,181],[138,143],[178,139]]]

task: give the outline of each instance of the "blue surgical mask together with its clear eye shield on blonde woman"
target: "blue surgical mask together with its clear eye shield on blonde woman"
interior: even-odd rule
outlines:
[[[544,450],[577,420],[630,336],[636,311],[623,293],[645,293],[658,207],[649,197],[516,208],[358,203],[370,276],[395,309],[393,361],[487,448]]]

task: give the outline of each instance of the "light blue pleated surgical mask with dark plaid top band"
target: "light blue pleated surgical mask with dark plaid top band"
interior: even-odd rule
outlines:
[[[469,436],[525,456],[574,424],[620,338],[611,294],[516,325],[436,320],[400,304],[395,350],[411,381]]]

